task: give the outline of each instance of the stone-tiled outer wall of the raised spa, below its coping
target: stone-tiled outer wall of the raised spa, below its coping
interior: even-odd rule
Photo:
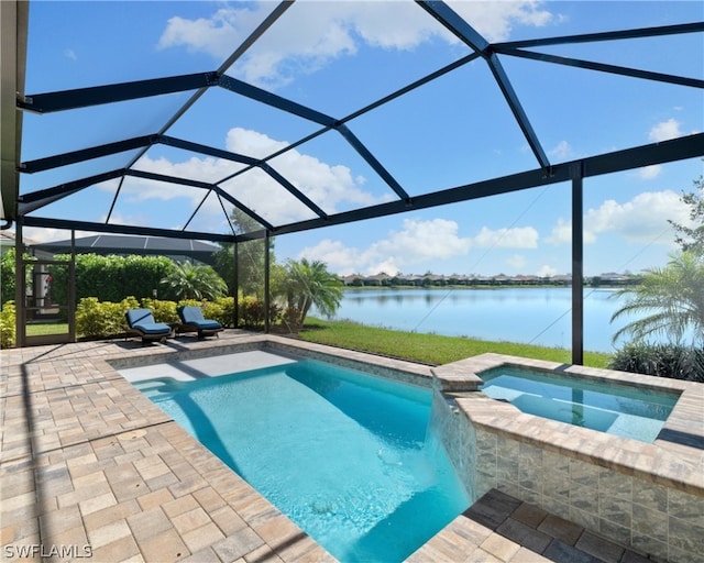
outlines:
[[[436,390],[433,423],[472,500],[492,488],[672,563],[704,563],[704,496],[473,424]]]

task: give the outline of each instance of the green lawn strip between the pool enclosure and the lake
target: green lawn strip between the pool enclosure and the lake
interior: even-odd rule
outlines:
[[[299,336],[307,342],[317,342],[363,352],[400,357],[426,364],[448,364],[465,357],[494,352],[513,356],[572,363],[569,350],[557,347],[516,344],[513,342],[491,342],[466,338],[440,336],[402,332],[354,322],[327,321],[309,318]],[[584,352],[584,365],[606,367],[609,354]]]

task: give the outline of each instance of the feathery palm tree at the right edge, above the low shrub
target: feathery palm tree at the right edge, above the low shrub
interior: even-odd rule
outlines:
[[[688,331],[693,340],[704,343],[704,256],[682,251],[670,255],[663,268],[650,268],[642,283],[614,292],[614,297],[631,299],[612,316],[612,322],[627,314],[646,314],[618,330],[613,341],[631,335],[644,341],[664,334],[681,342]]]

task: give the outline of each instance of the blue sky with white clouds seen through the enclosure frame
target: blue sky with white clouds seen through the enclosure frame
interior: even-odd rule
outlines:
[[[449,2],[490,42],[690,23],[698,1]],[[274,2],[31,3],[26,93],[217,69]],[[701,33],[542,47],[546,53],[703,78]],[[343,118],[468,55],[406,1],[298,1],[227,74]],[[704,130],[701,89],[502,57],[552,163]],[[155,133],[190,92],[55,114],[24,114],[22,159]],[[411,196],[538,167],[483,60],[348,122]],[[167,134],[266,156],[318,125],[224,89],[210,89]],[[21,192],[124,166],[136,153],[23,175]],[[341,135],[326,133],[270,163],[326,212],[389,201],[395,194]],[[239,165],[167,146],[138,168],[217,181]],[[584,183],[586,275],[661,266],[675,250],[668,219],[686,224],[679,196],[703,173],[691,159]],[[265,174],[222,184],[273,224],[311,217]],[[38,210],[105,221],[117,180]],[[180,229],[201,190],[131,178],[110,222]],[[278,261],[322,260],[341,275],[562,275],[571,269],[571,186],[559,184],[383,219],[277,236]],[[190,228],[228,232],[212,197]],[[25,229],[35,241],[65,231]],[[77,236],[91,233],[77,233]]]

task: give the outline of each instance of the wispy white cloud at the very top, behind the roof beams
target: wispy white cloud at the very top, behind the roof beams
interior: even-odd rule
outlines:
[[[552,14],[536,1],[453,2],[490,42],[509,37],[514,25],[541,26]],[[160,48],[185,47],[219,60],[228,57],[272,10],[271,2],[254,8],[221,8],[209,18],[170,18]],[[231,73],[257,85],[286,84],[297,73],[312,73],[329,60],[353,55],[361,42],[381,48],[413,49],[441,37],[458,38],[413,2],[296,2],[248,49]]]

